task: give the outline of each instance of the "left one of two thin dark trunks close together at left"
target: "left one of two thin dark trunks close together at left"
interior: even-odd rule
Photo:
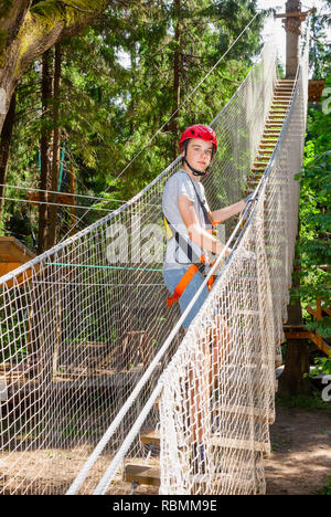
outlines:
[[[45,203],[47,196],[44,190],[49,190],[49,176],[50,176],[50,103],[52,98],[52,75],[51,75],[51,51],[43,54],[42,57],[42,134],[40,140],[40,201]],[[46,228],[47,228],[47,204],[39,205],[39,243],[38,252],[42,253],[46,250]]]

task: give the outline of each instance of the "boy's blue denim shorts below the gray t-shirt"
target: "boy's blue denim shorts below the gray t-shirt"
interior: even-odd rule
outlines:
[[[182,276],[185,274],[186,268],[181,267],[178,270],[166,270],[163,271],[163,279],[164,284],[170,293],[170,295],[173,295],[174,288],[178,285],[179,281],[182,278]],[[190,304],[191,299],[195,295],[196,291],[200,288],[200,286],[204,282],[204,276],[197,271],[191,282],[188,284],[185,291],[179,298],[179,305],[181,313],[185,310],[188,305]],[[183,321],[183,328],[186,329],[189,328],[191,321],[195,318],[196,314],[201,309],[204,300],[206,299],[209,295],[209,288],[207,286],[204,286],[202,289],[201,294],[199,295],[199,298],[196,299],[195,304],[191,308],[190,313],[185,317]]]

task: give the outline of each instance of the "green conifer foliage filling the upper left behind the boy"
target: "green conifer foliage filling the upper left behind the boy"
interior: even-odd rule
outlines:
[[[56,17],[65,19],[70,3],[81,8],[76,9],[77,15],[83,15],[103,2],[35,1],[32,12],[51,21]],[[242,36],[239,45],[233,48],[231,55],[185,102],[217,62],[221,52],[256,12],[256,1],[236,2],[235,12],[232,12],[233,3],[232,0],[192,0],[182,2],[181,11],[177,12],[173,1],[140,0],[130,2],[129,9],[126,3],[115,2],[83,34],[62,42],[60,104],[62,146],[65,144],[64,190],[68,170],[74,168],[76,192],[108,197],[111,201],[103,201],[98,208],[114,210],[120,200],[137,194],[172,161],[178,151],[178,135],[173,134],[172,126],[175,117],[171,115],[174,54],[179,48],[183,106],[177,114],[178,128],[197,122],[209,124],[214,118],[259,51],[263,14]],[[174,38],[178,24],[180,41]],[[39,187],[40,83],[41,62],[38,60],[19,85],[9,184]],[[47,124],[52,128],[52,117]],[[26,199],[24,191],[7,189],[7,196]],[[66,212],[61,209],[62,220]],[[83,213],[76,210],[77,217]],[[83,225],[105,213],[88,212]],[[26,220],[26,225],[22,226],[22,219]],[[33,234],[38,233],[38,207],[7,201],[3,222],[7,232],[31,245]]]

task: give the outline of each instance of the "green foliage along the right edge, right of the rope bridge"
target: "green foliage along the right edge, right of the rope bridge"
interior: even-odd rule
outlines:
[[[325,87],[331,86],[331,74]],[[311,320],[307,305],[331,306],[331,114],[321,104],[309,105],[303,168],[300,181],[300,239],[298,241],[299,295],[307,328],[331,337],[331,317]],[[330,371],[330,358],[317,358],[314,372]]]

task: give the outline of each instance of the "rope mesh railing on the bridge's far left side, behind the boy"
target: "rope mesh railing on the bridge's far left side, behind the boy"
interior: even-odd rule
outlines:
[[[212,123],[220,139],[220,152],[205,179],[212,210],[243,197],[276,82],[275,49],[267,44],[260,61]],[[92,493],[173,355],[181,355],[196,331],[194,324],[180,348],[183,333],[175,331],[158,356],[179,320],[178,307],[166,306],[168,292],[161,275],[161,196],[179,168],[178,159],[130,202],[0,278],[3,494],[65,493],[109,424],[122,413],[79,486],[79,493]],[[261,199],[263,194],[258,204]],[[246,230],[243,239],[248,240],[253,231]],[[241,246],[245,247],[244,240]],[[268,255],[263,256],[270,262]],[[234,263],[241,260],[236,252]],[[258,274],[256,266],[253,272],[249,267],[247,263],[248,276]],[[284,289],[275,285],[273,291],[273,282],[277,284],[270,274],[271,296],[277,297],[273,307],[278,310],[276,302],[282,300]],[[234,306],[245,303],[241,296],[236,294]],[[156,357],[158,362],[153,362]],[[121,411],[131,394],[132,403]],[[151,428],[158,421],[159,412],[152,408],[143,425]],[[147,456],[139,436],[132,439],[126,456]],[[129,490],[120,472],[108,492]]]

